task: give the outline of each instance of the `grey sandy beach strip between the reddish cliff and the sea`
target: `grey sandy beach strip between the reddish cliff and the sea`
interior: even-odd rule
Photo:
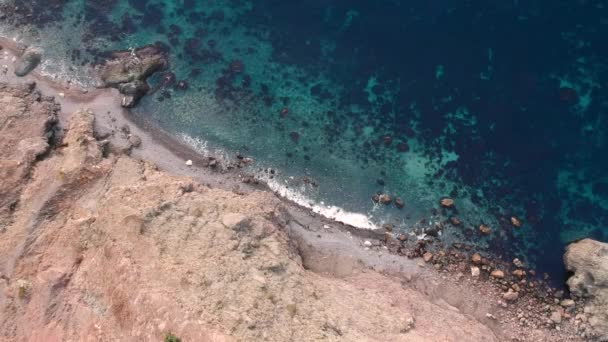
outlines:
[[[5,39],[0,38],[0,46],[5,46],[5,49],[7,49],[6,45]],[[15,52],[11,50],[10,46],[8,49],[13,53]],[[37,88],[45,95],[63,93],[64,96],[55,96],[55,100],[61,105],[60,120],[63,125],[65,125],[71,113],[85,106],[88,110],[95,113],[95,132],[98,136],[104,137],[104,140],[108,140],[114,149],[129,150],[128,153],[132,157],[139,160],[151,161],[162,171],[172,175],[192,177],[209,187],[218,187],[235,193],[249,193],[257,190],[273,193],[282,202],[288,204],[287,209],[291,216],[294,217],[296,224],[295,226],[290,226],[290,233],[293,234],[294,238],[311,244],[311,252],[308,253],[310,260],[305,262],[308,263],[309,269],[320,273],[348,273],[349,267],[354,267],[348,266],[350,262],[363,260],[363,264],[379,272],[397,276],[401,279],[409,279],[408,282],[413,284],[415,288],[419,288],[422,292],[428,291],[433,293],[439,290],[447,290],[446,292],[449,294],[450,290],[453,291],[458,286],[471,286],[471,284],[467,284],[467,282],[461,280],[463,277],[471,279],[474,283],[473,288],[475,286],[479,286],[482,289],[486,286],[494,288],[494,282],[489,277],[489,281],[486,282],[478,281],[481,278],[476,279],[474,276],[466,276],[466,265],[469,264],[466,260],[470,259],[469,255],[472,253],[468,252],[472,251],[465,251],[463,253],[464,262],[466,263],[464,268],[455,268],[447,272],[449,274],[446,275],[445,271],[449,269],[448,266],[456,265],[456,262],[446,262],[448,266],[443,269],[433,266],[438,264],[431,262],[435,261],[433,258],[440,259],[445,257],[445,254],[441,255],[442,252],[445,253],[443,249],[433,249],[434,253],[431,254],[429,260],[427,260],[426,254],[424,259],[409,259],[404,255],[400,255],[403,253],[399,249],[397,253],[391,250],[391,244],[395,243],[399,237],[389,236],[390,234],[388,233],[390,232],[386,232],[388,235],[385,235],[384,229],[364,230],[327,219],[313,213],[308,208],[304,208],[297,203],[293,203],[293,201],[278,196],[266,184],[251,185],[243,183],[242,174],[237,171],[238,169],[219,172],[205,167],[206,160],[191,146],[172,137],[162,129],[155,127],[144,118],[131,115],[128,110],[122,108],[120,106],[120,98],[117,96],[118,92],[114,89],[88,89],[85,93],[83,89],[58,84],[52,79],[36,74],[35,71],[22,79],[17,79],[16,77],[12,77],[11,79],[12,70],[9,70],[8,74],[8,82],[23,83],[27,80],[36,81]],[[129,127],[128,132],[125,132],[125,125]],[[139,137],[141,139],[141,146],[130,147],[130,136]],[[192,160],[193,165],[187,166],[185,164],[186,160]],[[326,228],[326,226],[329,228]],[[371,242],[365,239],[373,239],[374,241]],[[312,245],[314,241],[319,241],[316,246]],[[359,246],[358,250],[354,250],[357,245]],[[449,251],[447,246],[445,250]],[[340,255],[341,253],[347,256]],[[322,260],[328,257],[346,258],[346,268],[323,269]],[[458,263],[463,262],[462,258],[456,261]],[[427,267],[427,265],[433,267]],[[437,272],[434,268],[437,268],[441,272]],[[427,284],[428,282],[437,282],[441,277],[448,278],[444,278],[444,282],[454,282],[456,285],[448,287],[445,284]],[[487,293],[492,290],[486,288],[485,291]],[[500,293],[500,290],[498,293]],[[438,300],[448,301],[449,303],[449,299],[445,298],[445,294],[433,293],[431,296],[435,296]],[[507,304],[505,303],[505,306],[503,306],[502,303],[490,303],[489,299],[494,297],[496,295],[493,294],[488,296],[488,298],[480,299],[480,302],[485,301],[485,305],[481,306],[481,311],[479,308],[470,308],[471,303],[458,303],[459,305],[456,305],[456,307],[465,312],[468,311],[468,314],[474,316],[480,322],[498,329],[495,322],[495,316],[497,315],[495,312],[500,311],[501,308],[507,311],[514,310],[512,305],[517,307],[517,304],[508,304],[506,306]],[[454,306],[453,303],[449,304]],[[476,304],[479,304],[479,302]],[[469,308],[467,309],[467,307]]]

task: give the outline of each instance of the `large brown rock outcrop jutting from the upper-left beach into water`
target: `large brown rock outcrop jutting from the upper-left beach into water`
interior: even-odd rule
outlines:
[[[100,71],[102,86],[118,89],[123,95],[122,106],[133,107],[150,90],[148,77],[168,63],[166,52],[156,45],[114,52]]]

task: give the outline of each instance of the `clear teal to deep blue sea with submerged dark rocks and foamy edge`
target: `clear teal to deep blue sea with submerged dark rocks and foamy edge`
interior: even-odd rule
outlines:
[[[108,51],[160,42],[187,89],[160,89],[136,115],[201,153],[251,156],[249,172],[328,217],[419,238],[440,225],[445,244],[561,280],[567,243],[608,240],[607,7],[0,0],[0,33],[84,85]],[[374,203],[378,192],[405,207]]]

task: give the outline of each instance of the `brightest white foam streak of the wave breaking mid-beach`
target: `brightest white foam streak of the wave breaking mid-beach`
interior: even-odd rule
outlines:
[[[322,215],[331,220],[351,225],[360,229],[378,229],[378,225],[373,223],[371,217],[361,213],[346,211],[343,208],[334,205],[324,205],[323,203],[315,203],[313,200],[304,195],[301,191],[289,188],[282,184],[277,179],[265,179],[268,187],[279,196],[308,208],[313,212]]]

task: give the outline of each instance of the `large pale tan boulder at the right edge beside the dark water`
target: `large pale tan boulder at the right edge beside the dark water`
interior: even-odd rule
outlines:
[[[585,314],[592,334],[608,341],[608,244],[591,239],[572,243],[564,264],[574,274],[568,279],[573,296],[588,298]]]

